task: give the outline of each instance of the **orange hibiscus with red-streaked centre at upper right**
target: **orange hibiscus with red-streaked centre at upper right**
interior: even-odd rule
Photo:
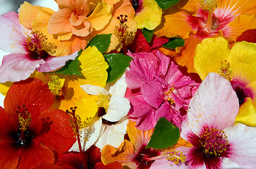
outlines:
[[[178,36],[188,41],[182,54],[174,58],[192,73],[195,72],[193,57],[197,44],[202,39],[219,35],[234,40],[243,31],[255,29],[255,9],[255,1],[249,0],[181,0],[163,13],[165,22],[157,27],[155,34],[158,37]]]

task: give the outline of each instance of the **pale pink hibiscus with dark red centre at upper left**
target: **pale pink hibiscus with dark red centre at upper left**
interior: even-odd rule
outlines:
[[[50,72],[78,56],[78,52],[62,57],[49,55],[47,51],[52,51],[54,44],[47,43],[41,32],[31,32],[20,25],[15,12],[0,15],[0,29],[0,39],[4,39],[0,42],[0,49],[11,53],[4,56],[1,63],[0,82],[25,80],[36,69]]]

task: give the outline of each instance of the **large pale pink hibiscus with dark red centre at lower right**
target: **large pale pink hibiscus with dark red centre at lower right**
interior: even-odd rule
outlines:
[[[190,101],[181,137],[192,148],[185,152],[190,168],[254,168],[256,130],[234,125],[239,104],[230,82],[209,73]]]

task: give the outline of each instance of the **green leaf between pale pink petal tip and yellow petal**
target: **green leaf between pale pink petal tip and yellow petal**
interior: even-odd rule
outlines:
[[[80,72],[80,61],[78,60],[78,57],[82,53],[82,49],[78,52],[78,56],[75,58],[75,60],[70,60],[66,62],[66,65],[63,66],[63,68],[56,70],[54,73],[64,74],[64,75],[83,75]]]

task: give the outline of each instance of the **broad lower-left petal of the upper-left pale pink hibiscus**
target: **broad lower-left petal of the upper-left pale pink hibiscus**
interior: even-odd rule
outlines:
[[[18,82],[30,77],[44,60],[31,60],[28,54],[9,54],[4,56],[0,66],[0,82]]]

